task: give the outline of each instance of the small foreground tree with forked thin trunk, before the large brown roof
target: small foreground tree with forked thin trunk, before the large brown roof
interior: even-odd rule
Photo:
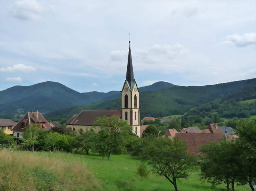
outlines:
[[[153,138],[142,149],[142,157],[153,172],[165,176],[178,191],[176,181],[186,178],[195,158],[186,152],[186,143],[178,138]]]

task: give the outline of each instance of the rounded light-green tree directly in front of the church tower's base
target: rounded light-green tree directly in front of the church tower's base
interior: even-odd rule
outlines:
[[[113,149],[124,147],[132,134],[132,127],[117,116],[99,117],[93,126],[100,127],[96,139],[96,149],[102,155],[102,159],[108,156],[109,160]]]

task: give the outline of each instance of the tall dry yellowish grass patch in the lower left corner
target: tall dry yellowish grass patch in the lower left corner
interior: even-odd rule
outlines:
[[[0,151],[1,191],[84,191],[99,188],[83,162],[63,155]],[[60,158],[61,157],[61,158]]]

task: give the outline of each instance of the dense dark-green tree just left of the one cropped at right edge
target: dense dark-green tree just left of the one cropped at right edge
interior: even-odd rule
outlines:
[[[201,178],[207,180],[213,185],[225,183],[227,190],[235,190],[235,181],[239,181],[239,169],[234,163],[234,142],[212,142],[209,145],[203,145],[200,149],[201,156]],[[245,184],[245,182],[241,182]]]

